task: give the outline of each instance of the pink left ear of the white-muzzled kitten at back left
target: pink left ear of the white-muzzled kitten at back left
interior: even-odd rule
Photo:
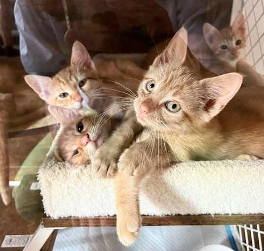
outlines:
[[[26,75],[24,77],[27,84],[45,101],[50,97],[52,79],[39,75]]]

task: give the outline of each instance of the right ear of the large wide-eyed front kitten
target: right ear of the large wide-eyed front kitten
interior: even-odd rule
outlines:
[[[205,85],[206,122],[221,112],[241,87],[243,77],[238,73],[227,73],[202,80]]]

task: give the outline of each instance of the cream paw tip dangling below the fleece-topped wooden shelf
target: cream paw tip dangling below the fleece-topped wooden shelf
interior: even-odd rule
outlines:
[[[117,236],[124,246],[130,246],[138,237],[141,217],[138,214],[129,216],[117,215]]]

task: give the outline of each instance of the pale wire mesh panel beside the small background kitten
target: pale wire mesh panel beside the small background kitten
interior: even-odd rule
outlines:
[[[245,60],[264,75],[264,0],[245,0],[242,11],[248,30]]]

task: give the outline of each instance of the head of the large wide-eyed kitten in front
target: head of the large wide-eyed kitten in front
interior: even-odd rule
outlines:
[[[134,101],[143,126],[180,132],[204,126],[239,90],[238,73],[200,79],[183,65],[186,51],[187,33],[181,29],[149,67]]]

